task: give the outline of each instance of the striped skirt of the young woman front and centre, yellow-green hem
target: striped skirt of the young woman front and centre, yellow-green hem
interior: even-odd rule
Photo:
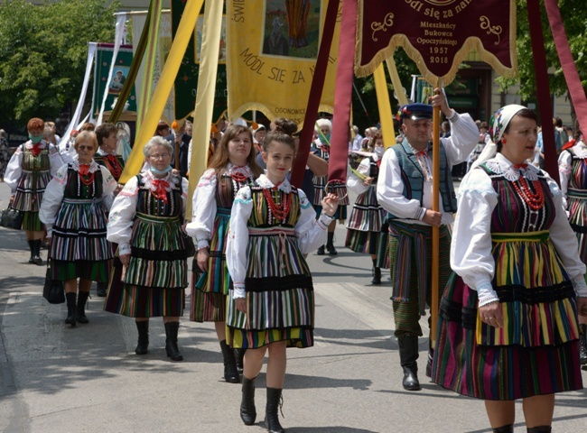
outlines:
[[[234,348],[258,348],[286,341],[288,347],[312,346],[312,276],[293,228],[249,228],[249,242],[247,314],[237,310],[230,290],[228,344]]]

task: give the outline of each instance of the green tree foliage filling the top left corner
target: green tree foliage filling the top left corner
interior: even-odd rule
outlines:
[[[0,123],[54,118],[74,103],[88,42],[114,41],[118,7],[117,0],[0,2]]]

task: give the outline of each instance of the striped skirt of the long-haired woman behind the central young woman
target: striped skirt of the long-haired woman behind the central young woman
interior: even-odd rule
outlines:
[[[230,209],[217,209],[212,237],[208,272],[201,272],[197,254],[191,263],[191,308],[192,322],[224,322],[227,311],[227,295],[230,275],[226,264],[226,242]]]

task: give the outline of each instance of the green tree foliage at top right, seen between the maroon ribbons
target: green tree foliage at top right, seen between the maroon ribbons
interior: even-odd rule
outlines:
[[[554,46],[553,33],[550,30],[548,16],[544,2],[541,3],[542,29],[545,38],[546,64],[550,66],[549,85],[551,93],[560,97],[567,94],[568,89],[564,80],[561,62],[558,59]],[[575,65],[582,79],[583,88],[587,88],[587,8],[584,0],[558,0],[558,6],[563,18],[564,30],[569,40]],[[502,89],[520,84],[520,96],[523,100],[531,99],[536,95],[536,73],[534,68],[532,42],[530,40],[530,26],[526,0],[517,0],[517,78],[499,78]]]

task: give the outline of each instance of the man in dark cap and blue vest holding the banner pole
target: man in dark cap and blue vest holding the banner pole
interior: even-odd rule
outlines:
[[[416,361],[418,336],[423,335],[419,319],[425,315],[426,303],[432,303],[432,226],[440,227],[440,299],[451,274],[451,236],[447,225],[452,223],[452,214],[457,210],[451,169],[467,159],[479,137],[471,116],[452,110],[440,89],[435,93],[430,98],[432,106],[401,107],[397,115],[403,121],[405,138],[383,155],[377,180],[377,199],[388,212],[395,336],[404,370],[402,385],[408,391],[421,389]],[[433,106],[440,106],[452,129],[451,137],[441,139],[440,144],[439,212],[432,210]],[[431,364],[430,351],[428,358]]]

